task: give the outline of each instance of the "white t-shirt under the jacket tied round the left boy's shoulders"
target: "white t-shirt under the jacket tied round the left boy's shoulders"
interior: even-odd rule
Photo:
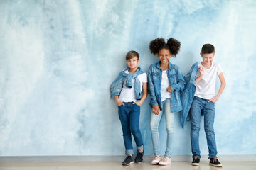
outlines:
[[[129,74],[128,70],[124,71],[125,73]],[[147,83],[147,77],[146,77],[146,73],[142,73],[139,74],[137,76],[137,78],[140,81],[140,85],[141,85],[141,90],[142,90],[142,84],[143,83]],[[132,102],[132,101],[137,101],[136,100],[136,94],[135,94],[135,89],[134,89],[134,82],[135,79],[132,79],[132,88],[128,88],[125,86],[125,81],[126,79],[124,79],[124,83],[123,83],[123,87],[122,87],[122,91],[120,93],[119,99],[122,102]]]

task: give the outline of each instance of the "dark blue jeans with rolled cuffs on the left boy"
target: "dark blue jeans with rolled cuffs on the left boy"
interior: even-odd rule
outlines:
[[[143,149],[142,134],[139,130],[140,106],[132,103],[134,102],[124,102],[124,106],[118,106],[126,154],[133,154],[132,135],[136,142],[137,149]]]

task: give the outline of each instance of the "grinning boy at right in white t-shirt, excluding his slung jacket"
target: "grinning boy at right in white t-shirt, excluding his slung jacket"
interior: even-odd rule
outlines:
[[[198,71],[196,72],[195,85],[196,91],[191,103],[191,149],[193,154],[192,165],[199,165],[200,149],[199,149],[199,130],[201,114],[204,115],[204,129],[206,132],[207,145],[209,150],[209,164],[212,166],[222,166],[217,159],[217,147],[215,142],[215,133],[213,129],[215,102],[218,101],[220,94],[225,88],[225,78],[220,64],[213,62],[215,56],[214,46],[205,44],[200,53],[203,61],[198,63]],[[220,89],[215,96],[216,77],[220,79]]]

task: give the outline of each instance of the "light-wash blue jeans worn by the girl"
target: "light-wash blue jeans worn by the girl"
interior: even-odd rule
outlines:
[[[154,155],[159,155],[160,145],[159,145],[159,123],[165,113],[166,118],[166,131],[167,131],[167,144],[165,156],[171,157],[171,140],[174,134],[174,113],[171,112],[171,99],[167,98],[165,101],[161,102],[161,108],[164,111],[160,111],[159,115],[151,112],[150,129],[151,137],[153,142]]]

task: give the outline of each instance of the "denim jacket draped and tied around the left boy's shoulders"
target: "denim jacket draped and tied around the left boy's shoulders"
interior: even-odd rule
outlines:
[[[110,85],[110,97],[117,96],[121,93],[122,91],[122,86],[124,83],[124,79],[126,79],[125,86],[131,88],[132,87],[132,79],[135,79],[134,82],[134,89],[135,89],[135,96],[137,100],[140,100],[142,98],[142,89],[141,89],[141,84],[137,76],[139,74],[143,74],[144,72],[140,67],[138,67],[137,71],[132,74],[132,73],[125,73],[126,70],[128,70],[129,67],[126,69],[122,70],[122,72],[119,73],[117,79],[115,79],[112,84]]]

